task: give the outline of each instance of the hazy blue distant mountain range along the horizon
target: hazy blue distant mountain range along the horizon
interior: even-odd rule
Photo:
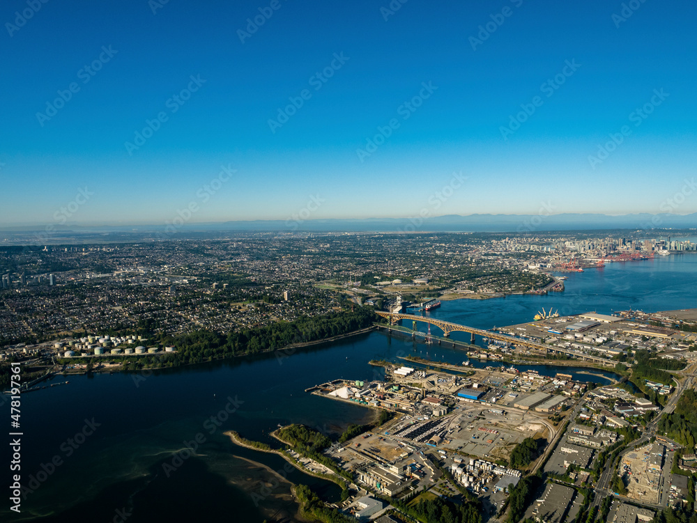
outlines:
[[[52,225],[52,224],[47,224]],[[697,212],[693,214],[447,214],[438,217],[253,220],[183,224],[173,231],[164,225],[82,226],[54,225],[52,235],[65,233],[147,233],[206,231],[346,231],[346,232],[492,232],[535,233],[536,231],[574,231],[596,229],[697,228]],[[0,231],[28,233],[45,231],[46,226],[5,226]]]

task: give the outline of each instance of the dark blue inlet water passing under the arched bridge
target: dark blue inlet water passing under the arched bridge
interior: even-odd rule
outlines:
[[[558,309],[563,315],[697,306],[694,255],[616,263],[567,276],[562,293],[460,299],[443,302],[430,314],[486,329],[530,321],[542,307]],[[468,340],[465,333],[451,336]],[[288,357],[268,354],[164,370],[149,377],[123,373],[70,377],[68,385],[27,393],[22,397],[22,480],[26,484],[31,475],[45,481],[23,502],[20,517],[8,511],[7,501],[3,503],[0,520],[43,515],[40,521],[49,523],[107,522],[114,519],[116,510],[132,513],[130,523],[193,520],[201,510],[213,521],[292,520],[296,506],[284,477],[311,485],[328,500],[338,498],[338,487],[289,469],[277,455],[235,446],[222,433],[237,430],[244,437],[275,444],[268,434],[279,423],[305,423],[330,434],[341,432],[348,423],[368,423],[373,416],[369,409],[304,390],[337,378],[379,379],[383,369],[367,361],[406,363],[399,357],[408,354],[454,364],[466,359],[458,348],[427,346],[379,331],[316,345]],[[584,375],[579,373],[581,368],[565,366],[533,368],[544,375],[571,373],[575,379],[601,383],[613,377],[598,370],[592,372],[605,378]],[[224,411],[228,404],[234,410],[229,415]],[[5,416],[8,411],[8,405],[3,405]],[[224,415],[218,416],[220,412]],[[220,420],[220,426],[210,416],[218,416],[214,419]],[[82,441],[80,431],[87,422],[99,425],[74,448],[70,439]],[[174,466],[180,464],[173,465],[173,454],[197,435],[201,442],[197,455]],[[52,469],[47,464],[54,457],[59,465]],[[8,456],[5,463],[9,460]],[[43,473],[42,464],[50,474]]]

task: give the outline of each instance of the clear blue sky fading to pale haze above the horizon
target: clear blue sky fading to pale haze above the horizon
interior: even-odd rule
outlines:
[[[636,1],[622,20],[621,2],[599,0],[408,0],[393,14],[381,12],[388,0],[160,1],[51,0],[36,13],[3,3],[1,224],[56,223],[84,187],[93,194],[69,223],[162,224],[190,203],[192,223],[286,219],[311,195],[323,200],[313,218],[535,214],[542,203],[661,212],[696,175],[694,2]],[[260,8],[273,15],[242,42]],[[32,16],[20,26],[22,10]],[[470,38],[487,23],[486,40]],[[332,63],[332,77],[314,76]],[[303,89],[296,114],[270,125]],[[512,130],[521,104],[535,111]],[[645,104],[651,114],[637,116]],[[167,120],[129,148],[160,112]],[[392,119],[385,143],[357,153]],[[622,126],[622,143],[589,159]],[[237,171],[206,193],[221,165]],[[467,180],[436,211],[429,198],[454,172]],[[697,194],[675,208],[696,211]]]

